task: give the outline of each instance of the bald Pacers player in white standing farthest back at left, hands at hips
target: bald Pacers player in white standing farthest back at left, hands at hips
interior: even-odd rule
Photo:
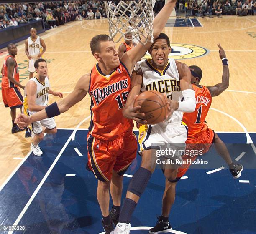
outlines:
[[[35,70],[34,63],[38,58],[42,58],[42,55],[46,51],[46,45],[44,40],[36,35],[36,29],[30,29],[30,37],[25,41],[25,53],[29,59],[28,61],[28,71],[29,79],[33,77]],[[41,48],[43,50],[41,51]]]

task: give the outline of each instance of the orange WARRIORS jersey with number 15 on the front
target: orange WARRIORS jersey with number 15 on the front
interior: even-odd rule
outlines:
[[[130,90],[130,75],[121,63],[111,75],[96,64],[90,74],[91,123],[89,135],[111,141],[131,133],[133,121],[123,117],[122,108]]]

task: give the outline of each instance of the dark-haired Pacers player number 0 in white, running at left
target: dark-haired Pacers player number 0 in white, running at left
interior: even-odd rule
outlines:
[[[48,94],[63,97],[62,93],[54,92],[50,89],[48,78],[48,69],[46,60],[40,58],[34,63],[36,76],[31,78],[25,86],[25,100],[23,103],[23,113],[31,116],[38,111],[46,108],[48,103]],[[43,130],[42,126],[45,128]],[[31,123],[28,127],[30,132],[34,133],[31,149],[33,154],[41,156],[43,152],[38,146],[39,142],[43,140],[44,133],[57,133],[56,123],[54,118],[45,118],[41,121]]]

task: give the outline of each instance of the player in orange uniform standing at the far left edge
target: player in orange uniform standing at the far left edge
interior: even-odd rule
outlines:
[[[23,129],[18,128],[14,123],[16,118],[16,109],[20,108],[22,112],[22,102],[23,96],[20,93],[20,88],[24,89],[24,86],[20,83],[18,63],[15,60],[15,55],[17,55],[17,47],[13,43],[7,46],[8,55],[4,58],[2,73],[2,97],[5,107],[10,107],[10,115],[12,118],[12,133],[17,133],[23,131]]]

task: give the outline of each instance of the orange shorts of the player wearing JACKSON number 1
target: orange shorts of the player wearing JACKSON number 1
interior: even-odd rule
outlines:
[[[188,139],[186,141],[186,150],[191,150],[191,151],[201,150],[201,152],[204,154],[210,150],[213,143],[214,143],[214,131],[210,128],[207,128],[205,133],[203,133],[200,136],[200,138],[193,139],[193,140]],[[182,156],[182,160],[185,162],[181,167],[179,167],[177,178],[184,176],[184,174],[187,172],[187,170],[189,169],[189,166],[192,164],[190,159],[194,161],[195,159],[197,159],[197,155]]]

